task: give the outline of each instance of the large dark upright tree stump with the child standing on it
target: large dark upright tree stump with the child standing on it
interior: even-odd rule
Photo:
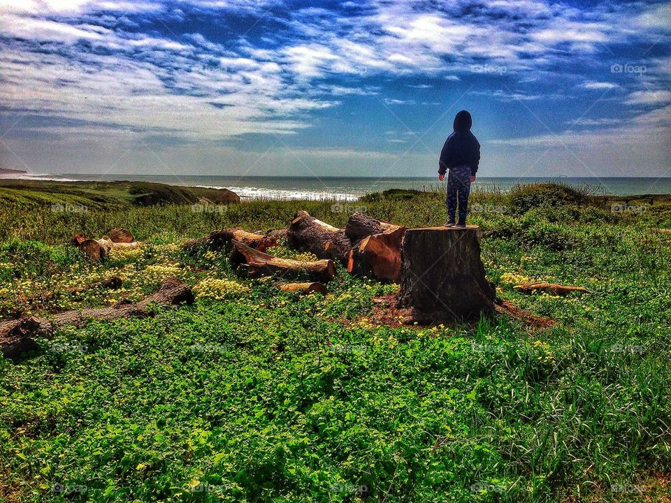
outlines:
[[[472,319],[493,312],[478,226],[408,229],[401,249],[398,304],[421,322]]]

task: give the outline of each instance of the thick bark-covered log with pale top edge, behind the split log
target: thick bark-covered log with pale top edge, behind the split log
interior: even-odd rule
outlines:
[[[319,258],[347,263],[352,242],[345,231],[312,217],[303,210],[296,213],[287,231],[289,245],[310,251]]]

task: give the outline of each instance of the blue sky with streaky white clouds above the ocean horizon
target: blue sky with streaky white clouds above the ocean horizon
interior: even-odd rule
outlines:
[[[671,176],[671,1],[0,0],[0,168]]]

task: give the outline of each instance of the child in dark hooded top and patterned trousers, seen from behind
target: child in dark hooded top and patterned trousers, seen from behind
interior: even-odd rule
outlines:
[[[447,222],[446,227],[466,227],[466,210],[470,184],[475,182],[475,173],[480,162],[480,144],[470,132],[473,119],[466,110],[454,117],[454,133],[447,137],[440,152],[438,180],[447,175]],[[455,221],[456,206],[459,202],[459,221]]]

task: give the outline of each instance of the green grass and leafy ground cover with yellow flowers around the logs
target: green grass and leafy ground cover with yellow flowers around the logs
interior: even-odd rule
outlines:
[[[221,254],[177,246],[213,228],[285,227],[298,209],[342,226],[347,214],[332,203],[79,213],[7,203],[2,316],[135,300],[173,274],[197,300],[62,330],[19,363],[0,360],[0,498],[670,500],[671,235],[650,231],[670,226],[667,203],[612,212],[546,185],[471,203],[498,295],[558,326],[373,326],[373,297],[395,285],[339,268],[327,296],[301,297],[236,275]],[[435,193],[356,205],[408,226],[445,219]],[[67,246],[75,232],[113,226],[145,245],[101,265]],[[122,291],[67,293],[113,274]],[[592,293],[524,296],[512,289],[524,278]],[[36,293],[55,296],[34,302]]]

